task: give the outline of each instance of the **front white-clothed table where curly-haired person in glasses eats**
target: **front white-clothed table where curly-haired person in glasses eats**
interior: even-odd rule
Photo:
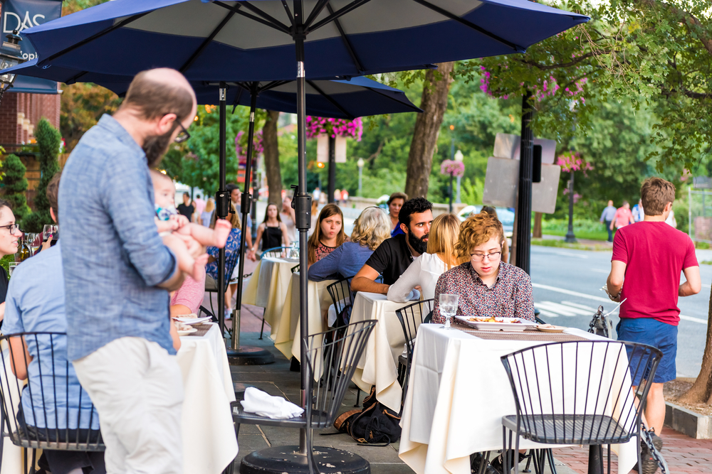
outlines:
[[[574,328],[565,333],[605,340]],[[471,453],[502,449],[502,416],[514,415],[516,409],[501,356],[548,342],[551,339],[485,340],[463,330],[444,330],[441,324],[421,325],[401,419],[399,457],[419,474],[469,474]],[[520,438],[521,449],[560,446]],[[637,447],[637,438],[613,446],[619,474],[637,462]]]

